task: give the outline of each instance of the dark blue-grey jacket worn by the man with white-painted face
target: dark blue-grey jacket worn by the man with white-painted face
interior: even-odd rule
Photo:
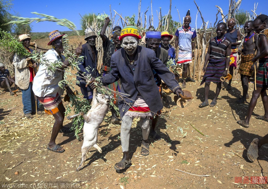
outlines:
[[[157,84],[154,81],[152,68],[173,92],[180,88],[174,74],[155,56],[155,52],[141,46],[137,47],[133,65],[128,63],[123,48],[117,50],[111,56],[111,71],[101,77],[101,81],[103,85],[108,85],[120,79],[121,93],[128,94],[124,95],[128,97],[125,98],[126,102],[132,106],[138,92],[140,92],[150,110],[157,112],[163,108],[163,104]],[[124,101],[119,100],[118,108],[122,118],[130,107]],[[152,113],[152,115],[154,114]]]

